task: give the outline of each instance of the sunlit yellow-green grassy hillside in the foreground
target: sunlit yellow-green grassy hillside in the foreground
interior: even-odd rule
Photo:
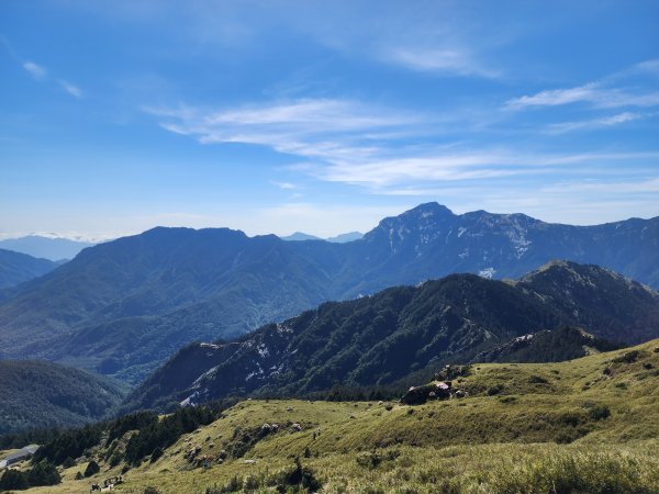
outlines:
[[[659,340],[560,363],[474,364],[465,398],[246,401],[124,473],[116,492],[657,493]],[[265,424],[268,424],[266,427]],[[277,424],[275,429],[271,425]],[[126,433],[63,471],[83,493],[124,467]],[[198,448],[190,462],[186,457]],[[109,448],[109,449],[108,449]],[[225,457],[222,463],[217,457]],[[294,458],[300,464],[295,465]],[[87,461],[101,472],[76,481]],[[201,465],[198,465],[202,463]],[[319,487],[320,485],[320,487]]]

